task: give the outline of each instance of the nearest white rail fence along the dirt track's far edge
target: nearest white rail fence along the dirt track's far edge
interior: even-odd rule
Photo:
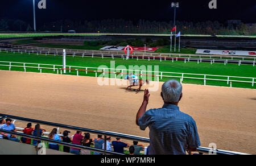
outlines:
[[[159,71],[154,72],[154,71],[147,71],[147,70],[129,70],[129,69],[124,70],[124,69],[112,69],[112,68],[76,67],[71,65],[67,66],[67,69],[63,69],[62,65],[19,63],[19,62],[10,62],[10,61],[0,61],[0,63],[3,63],[3,64],[0,64],[0,67],[1,66],[9,67],[9,70],[11,70],[11,68],[13,67],[19,67],[19,68],[23,68],[24,72],[26,72],[26,68],[38,69],[40,70],[40,73],[42,73],[42,69],[49,69],[49,70],[53,70],[53,72],[57,71],[57,74],[63,74],[63,70],[68,70],[69,73],[71,73],[72,70],[75,70],[77,73],[77,76],[79,76],[79,72],[85,72],[85,74],[88,74],[88,72],[94,72],[96,74],[96,77],[97,77],[97,73],[104,73],[104,74],[112,73],[114,74],[115,78],[117,78],[117,74],[122,74],[122,77],[123,77],[123,74],[129,74],[132,72],[137,74],[141,78],[143,76],[155,77],[158,82],[159,82],[159,77],[160,79],[163,79],[163,77],[167,77],[167,78],[179,78],[181,82],[184,81],[184,79],[202,80],[204,81],[204,85],[207,85],[207,81],[221,81],[221,82],[227,82],[227,85],[230,85],[230,86],[232,86],[232,82],[243,82],[243,83],[250,83],[251,86],[254,87],[254,84],[256,83],[255,82],[256,78],[254,77],[219,76],[219,75],[211,75],[211,74],[175,73],[175,72],[159,72]],[[22,65],[14,65],[14,64],[22,64]],[[36,65],[37,67],[35,66],[31,67],[27,65]],[[46,65],[50,67],[42,67],[42,65]],[[124,71],[126,72],[123,73]],[[154,75],[152,75],[152,73],[154,73]],[[220,79],[223,77],[226,79]]]

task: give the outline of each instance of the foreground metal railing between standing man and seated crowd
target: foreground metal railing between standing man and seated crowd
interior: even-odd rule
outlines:
[[[65,125],[65,124],[52,123],[52,122],[46,122],[46,121],[38,121],[38,120],[35,120],[35,119],[28,119],[28,118],[23,118],[23,117],[16,117],[16,116],[13,116],[13,115],[0,114],[0,119],[5,119],[5,118],[11,118],[11,119],[15,119],[15,120],[23,121],[23,122],[35,123],[35,124],[43,124],[43,125],[46,125],[46,126],[53,126],[55,128],[59,127],[59,128],[66,128],[66,129],[69,129],[69,130],[75,130],[75,131],[81,131],[81,132],[90,132],[90,133],[93,133],[93,134],[104,135],[105,145],[106,145],[106,136],[113,136],[113,137],[116,137],[116,138],[122,138],[122,139],[127,139],[127,140],[135,140],[135,141],[138,141],[138,142],[150,143],[150,139],[139,137],[139,136],[119,134],[117,132],[92,130],[92,129],[88,129],[88,128],[68,126],[68,125]],[[39,131],[39,128],[38,128],[38,131]],[[4,132],[4,133],[7,133],[7,134],[11,134],[11,135],[18,135],[18,136],[22,136],[24,138],[41,140],[41,141],[49,142],[49,143],[56,143],[56,144],[59,144],[59,145],[73,147],[73,148],[80,148],[80,149],[84,149],[84,150],[96,151],[96,152],[100,152],[100,153],[108,153],[108,154],[113,154],[113,155],[123,155],[121,153],[106,151],[106,147],[105,147],[104,150],[100,150],[100,149],[93,148],[93,147],[84,147],[84,146],[79,146],[77,144],[65,143],[65,142],[60,142],[60,141],[57,141],[57,140],[42,138],[42,137],[39,136],[39,134],[38,134],[38,136],[31,136],[31,135],[22,134],[22,133],[19,133],[19,132],[6,131],[6,130],[1,130],[1,129],[0,129],[0,132]],[[199,152],[199,153],[211,153],[212,151],[213,151],[212,148],[205,148],[205,147],[197,148],[197,152]],[[246,153],[224,151],[224,150],[214,150],[214,152],[217,155],[247,155]]]

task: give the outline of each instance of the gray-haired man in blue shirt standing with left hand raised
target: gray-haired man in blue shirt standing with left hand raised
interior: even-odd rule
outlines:
[[[141,130],[150,129],[149,155],[185,155],[187,148],[196,151],[200,146],[196,122],[177,106],[182,95],[180,82],[169,80],[162,86],[163,107],[146,111],[150,94],[145,90],[136,123]]]

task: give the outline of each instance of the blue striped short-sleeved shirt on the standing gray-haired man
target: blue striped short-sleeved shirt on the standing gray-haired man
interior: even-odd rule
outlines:
[[[150,155],[185,155],[187,145],[201,145],[196,122],[176,105],[146,111],[139,118],[139,127],[150,129]]]

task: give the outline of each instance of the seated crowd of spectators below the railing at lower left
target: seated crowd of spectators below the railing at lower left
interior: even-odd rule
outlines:
[[[13,120],[7,118],[2,119],[0,121],[0,128],[3,130],[7,130],[7,131],[14,131],[16,132],[16,127],[13,123],[11,123]],[[28,123],[26,128],[24,128],[23,133],[26,135],[32,135],[32,136],[37,136],[39,134],[39,137],[44,135],[44,132],[46,132],[46,130],[40,128],[39,124],[35,125],[35,128],[32,128],[32,123]],[[39,133],[38,133],[38,129],[39,128]],[[48,139],[52,139],[52,140],[57,140],[57,141],[63,141],[65,143],[72,143],[72,144],[77,144],[80,146],[85,146],[85,147],[91,147],[94,143],[94,147],[104,150],[105,148],[105,144],[104,144],[104,139],[102,138],[102,135],[98,135],[98,138],[90,138],[90,134],[89,133],[84,133],[84,136],[82,135],[81,131],[77,131],[75,135],[73,135],[73,137],[71,135],[69,135],[69,131],[65,130],[63,132],[63,135],[59,135],[57,134],[57,128],[53,128],[52,131],[49,133],[48,135]],[[15,135],[11,135],[11,134],[5,134],[3,132],[0,132],[0,139],[8,139],[11,141],[15,141],[15,142],[20,142],[20,143],[26,143],[26,144],[32,144],[33,146],[37,146],[40,142],[40,140],[32,140],[29,138],[24,138],[21,137],[20,139],[16,138]],[[111,137],[107,136],[106,138],[106,150],[107,151],[113,151],[114,152],[118,152],[118,153],[124,153],[124,148],[129,148],[129,144],[127,143],[123,143],[120,141],[120,138],[116,138],[116,141],[111,142]],[[138,143],[138,142],[137,142]],[[134,143],[133,146],[131,146],[130,148],[135,149],[135,146],[137,146],[137,143]],[[113,147],[113,148],[112,148]],[[56,150],[59,151],[60,147],[59,144],[53,143],[53,142],[49,142],[48,143],[48,148],[51,150]],[[141,148],[139,148],[139,151],[143,150],[143,146],[141,145]],[[63,151],[67,152],[67,153],[72,153],[75,155],[90,155],[91,151],[90,150],[84,150],[84,149],[79,149],[79,148],[70,148],[68,146],[63,146]],[[139,151],[137,152],[139,154]],[[134,153],[134,152],[133,152]],[[102,153],[99,152],[93,152],[94,155],[102,155]]]

